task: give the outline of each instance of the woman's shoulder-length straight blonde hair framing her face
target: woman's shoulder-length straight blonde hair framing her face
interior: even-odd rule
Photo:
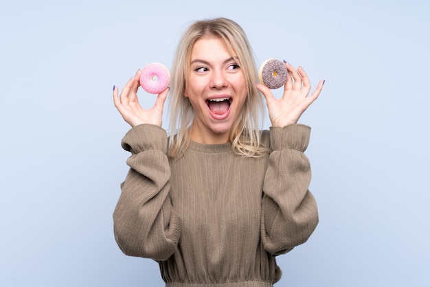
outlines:
[[[225,18],[196,21],[183,34],[172,63],[170,85],[170,135],[171,157],[181,157],[191,140],[194,110],[188,97],[183,95],[187,87],[192,47],[203,36],[222,39],[231,56],[238,57],[247,87],[247,97],[240,115],[231,128],[229,141],[237,154],[245,157],[260,157],[266,148],[260,144],[259,122],[264,115],[262,95],[256,87],[258,73],[251,46],[245,32],[234,21]],[[175,135],[173,135],[175,133]]]

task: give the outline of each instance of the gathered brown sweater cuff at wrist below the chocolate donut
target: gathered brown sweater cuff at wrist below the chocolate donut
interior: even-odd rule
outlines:
[[[304,124],[290,124],[288,126],[270,128],[271,150],[291,148],[304,152],[308,147],[310,127]]]

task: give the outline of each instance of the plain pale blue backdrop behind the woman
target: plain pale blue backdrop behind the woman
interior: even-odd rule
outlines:
[[[300,120],[320,223],[278,257],[276,286],[430,286],[428,1],[1,6],[0,286],[163,286],[113,238],[129,127],[112,87],[149,62],[170,68],[190,21],[215,16],[242,25],[258,65],[326,80]]]

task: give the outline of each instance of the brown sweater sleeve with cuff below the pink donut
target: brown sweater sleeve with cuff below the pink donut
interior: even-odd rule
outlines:
[[[177,248],[181,220],[170,200],[166,131],[135,126],[122,139],[130,170],[113,212],[115,240],[131,256],[167,260]]]

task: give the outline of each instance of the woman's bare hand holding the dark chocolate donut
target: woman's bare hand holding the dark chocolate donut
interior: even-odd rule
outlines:
[[[284,95],[280,99],[276,99],[271,90],[264,84],[257,84],[257,88],[266,98],[272,126],[284,127],[288,124],[296,124],[306,108],[317,100],[324,84],[324,81],[319,81],[317,89],[308,95],[310,82],[304,69],[299,67],[296,70],[288,63],[285,66],[288,70],[288,76],[284,84]]]

